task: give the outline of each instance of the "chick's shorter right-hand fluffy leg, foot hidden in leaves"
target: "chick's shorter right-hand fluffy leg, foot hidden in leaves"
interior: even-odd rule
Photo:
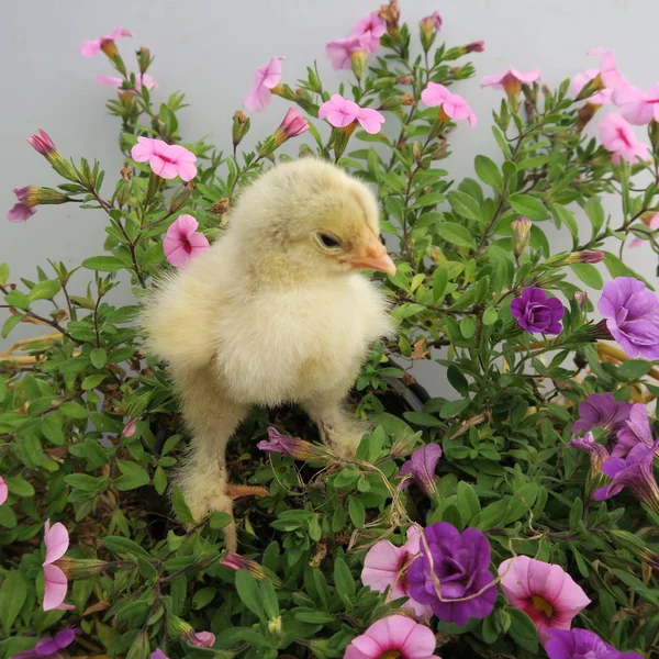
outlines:
[[[356,420],[345,409],[344,399],[348,388],[340,387],[302,401],[304,411],[319,426],[323,442],[346,458],[355,456],[361,437],[370,429],[367,423]]]

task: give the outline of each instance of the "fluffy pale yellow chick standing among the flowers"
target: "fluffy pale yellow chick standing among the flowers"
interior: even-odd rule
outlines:
[[[299,403],[330,447],[355,453],[367,428],[343,402],[369,346],[393,331],[384,297],[358,273],[395,272],[378,234],[364,183],[322,160],[281,164],[146,303],[148,350],[169,364],[192,433],[178,484],[196,520],[260,490],[226,481],[226,444],[252,405]],[[233,549],[235,534],[232,524]]]

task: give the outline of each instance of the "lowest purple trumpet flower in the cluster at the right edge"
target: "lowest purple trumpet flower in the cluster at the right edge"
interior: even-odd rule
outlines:
[[[602,473],[613,480],[595,490],[593,498],[597,501],[615,496],[623,488],[629,488],[634,495],[647,503],[659,514],[659,485],[652,473],[655,454],[659,451],[659,439],[652,446],[637,444],[626,458],[610,458],[602,465]]]

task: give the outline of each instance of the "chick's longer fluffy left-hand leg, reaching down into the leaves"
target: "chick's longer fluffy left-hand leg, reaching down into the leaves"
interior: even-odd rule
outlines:
[[[226,444],[248,412],[248,407],[227,400],[202,370],[176,378],[183,398],[183,415],[192,439],[177,477],[186,503],[197,521],[220,511],[233,516],[233,498],[226,481]],[[250,493],[250,492],[249,492]],[[226,547],[237,545],[236,525],[225,527]]]

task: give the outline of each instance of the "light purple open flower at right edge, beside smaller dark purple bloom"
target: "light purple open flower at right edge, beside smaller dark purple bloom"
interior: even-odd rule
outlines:
[[[597,309],[628,357],[659,359],[659,298],[643,281],[634,277],[607,281]]]

